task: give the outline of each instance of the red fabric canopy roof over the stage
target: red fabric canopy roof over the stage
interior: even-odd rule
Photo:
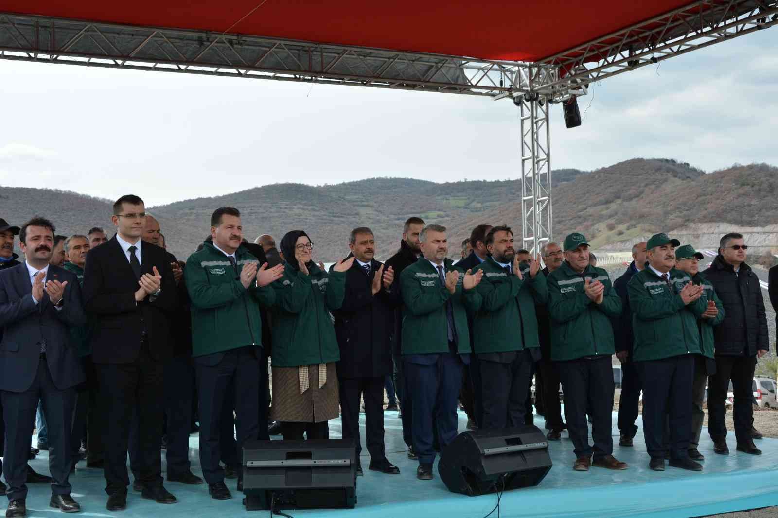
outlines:
[[[0,12],[227,31],[480,59],[538,61],[692,3],[689,0],[266,0],[264,3],[261,0],[0,0]]]

